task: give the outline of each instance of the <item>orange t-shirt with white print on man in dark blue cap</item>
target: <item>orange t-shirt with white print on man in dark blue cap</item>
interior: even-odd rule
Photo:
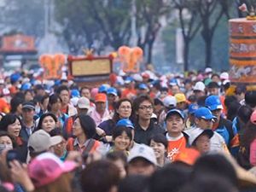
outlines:
[[[185,150],[187,141],[185,137],[179,138],[177,141],[168,141],[167,157],[173,162],[176,160],[177,154]]]

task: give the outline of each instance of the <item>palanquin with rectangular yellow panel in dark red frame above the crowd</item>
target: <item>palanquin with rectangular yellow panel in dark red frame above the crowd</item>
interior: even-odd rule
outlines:
[[[113,72],[113,55],[94,56],[87,53],[83,56],[68,55],[68,78],[78,84],[96,86],[109,82]]]

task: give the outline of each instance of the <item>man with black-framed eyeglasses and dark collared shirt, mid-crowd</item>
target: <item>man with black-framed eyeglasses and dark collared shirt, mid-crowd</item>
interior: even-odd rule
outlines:
[[[147,95],[138,96],[134,102],[134,109],[136,113],[135,119],[135,136],[136,143],[148,144],[149,139],[154,134],[164,134],[165,130],[154,123],[151,119],[154,110],[154,102]]]

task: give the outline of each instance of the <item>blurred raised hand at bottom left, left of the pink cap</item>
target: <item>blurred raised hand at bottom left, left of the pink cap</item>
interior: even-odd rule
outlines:
[[[11,177],[15,183],[20,183],[26,191],[35,189],[32,180],[28,176],[26,164],[20,164],[18,160],[9,162]]]

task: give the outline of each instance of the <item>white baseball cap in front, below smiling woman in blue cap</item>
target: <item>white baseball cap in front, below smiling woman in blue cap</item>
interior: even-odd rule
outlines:
[[[138,144],[131,148],[127,161],[130,163],[131,160],[134,160],[138,157],[148,160],[150,163],[154,164],[154,166],[157,166],[153,148],[150,148],[145,144]]]

